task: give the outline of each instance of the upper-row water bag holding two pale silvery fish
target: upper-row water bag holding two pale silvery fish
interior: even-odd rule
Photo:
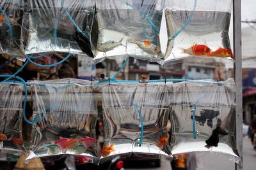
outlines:
[[[164,1],[96,0],[99,38],[95,62],[131,55],[163,64],[159,42]]]

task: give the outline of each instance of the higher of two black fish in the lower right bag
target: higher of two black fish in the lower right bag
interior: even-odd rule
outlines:
[[[204,126],[206,120],[207,125],[212,128],[212,119],[218,117],[220,115],[220,111],[215,110],[201,110],[200,116],[195,115],[195,121],[200,122],[200,125]],[[191,116],[191,119],[193,119],[193,116]]]

